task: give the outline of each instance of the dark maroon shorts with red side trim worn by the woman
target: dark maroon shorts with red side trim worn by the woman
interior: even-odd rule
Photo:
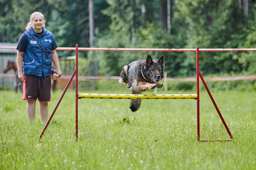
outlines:
[[[39,77],[24,75],[23,97],[24,100],[51,101],[51,76]]]

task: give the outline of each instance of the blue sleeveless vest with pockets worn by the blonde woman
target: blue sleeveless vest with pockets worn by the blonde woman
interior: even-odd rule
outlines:
[[[45,55],[44,51],[36,40],[27,32],[24,32],[28,37],[28,46],[23,55],[23,73],[25,75],[33,76],[50,76],[52,70],[52,42],[53,35],[50,31],[47,31],[43,28],[42,37],[39,39],[34,29],[31,28],[28,30],[34,37],[41,43],[45,49],[48,57]]]

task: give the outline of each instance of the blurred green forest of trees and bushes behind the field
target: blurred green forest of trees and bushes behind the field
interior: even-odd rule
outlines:
[[[40,11],[58,47],[255,48],[255,0],[94,0],[89,41],[87,0],[0,0],[0,41],[18,42],[30,14]],[[74,55],[58,51],[60,57]],[[165,56],[168,77],[196,74],[195,52],[79,52],[84,70],[118,76],[131,61]],[[82,57],[83,56],[83,57]],[[252,75],[255,52],[201,52],[203,75]],[[80,61],[79,61],[80,62]],[[94,63],[94,64],[90,64]],[[97,74],[98,74],[97,73]]]

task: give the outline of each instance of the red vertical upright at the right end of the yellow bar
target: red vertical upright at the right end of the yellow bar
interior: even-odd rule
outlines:
[[[199,47],[196,47],[197,141],[200,141],[199,73]]]

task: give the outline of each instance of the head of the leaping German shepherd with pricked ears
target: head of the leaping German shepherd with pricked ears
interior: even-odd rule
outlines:
[[[150,82],[159,82],[164,77],[164,55],[158,60],[148,55],[143,68],[143,76]]]

